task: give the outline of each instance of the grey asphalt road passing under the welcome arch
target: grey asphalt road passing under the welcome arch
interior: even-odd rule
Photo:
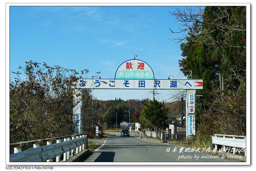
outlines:
[[[79,162],[236,162],[202,150],[185,152],[184,148],[180,153],[179,146],[149,142],[131,133],[130,137],[121,137],[120,132],[108,133],[110,136],[100,142],[102,145]],[[175,147],[177,151],[173,152]]]

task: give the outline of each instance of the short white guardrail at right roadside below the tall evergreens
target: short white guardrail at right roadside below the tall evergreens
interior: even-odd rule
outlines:
[[[244,148],[244,156],[246,157],[246,136],[214,134],[214,136],[212,136],[212,144],[215,144],[216,150],[218,150],[218,145],[223,145],[224,152],[227,150],[226,147],[233,147],[231,150],[231,152],[233,151],[233,154],[236,154],[236,147]]]

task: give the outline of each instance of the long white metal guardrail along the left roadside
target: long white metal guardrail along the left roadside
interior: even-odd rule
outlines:
[[[56,144],[52,141],[56,140]],[[61,142],[63,140],[63,142]],[[40,146],[40,143],[46,142],[47,145]],[[22,146],[33,144],[33,148],[22,151]],[[85,147],[86,145],[86,147]],[[63,137],[48,138],[43,140],[34,140],[10,144],[10,149],[14,148],[14,153],[10,155],[10,162],[51,162],[56,157],[56,162],[60,162],[60,155],[63,155],[63,161],[70,159],[79,151],[88,148],[88,138],[85,134],[69,135]]]

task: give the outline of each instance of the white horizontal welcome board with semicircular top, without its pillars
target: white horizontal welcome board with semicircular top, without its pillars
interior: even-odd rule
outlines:
[[[131,59],[116,70],[114,79],[79,79],[78,89],[203,89],[202,79],[155,79],[144,61]]]

